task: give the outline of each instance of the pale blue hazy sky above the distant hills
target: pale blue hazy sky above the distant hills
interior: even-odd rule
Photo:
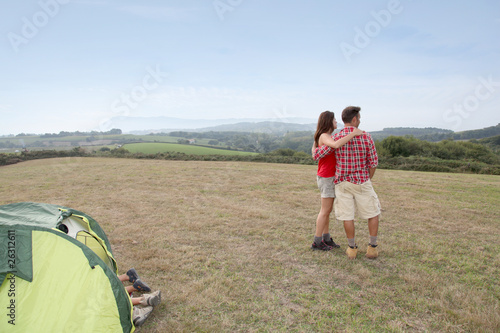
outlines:
[[[0,3],[0,135],[349,105],[367,131],[500,122],[498,0]]]

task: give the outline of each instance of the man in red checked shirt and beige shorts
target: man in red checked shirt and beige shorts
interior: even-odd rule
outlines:
[[[342,111],[342,121],[345,127],[334,135],[335,140],[345,137],[358,128],[361,122],[360,111],[361,108],[357,106],[349,106]],[[314,159],[328,153],[330,153],[329,148],[319,147],[315,151]],[[375,259],[378,257],[377,234],[380,202],[371,183],[371,178],[378,165],[377,151],[371,135],[365,133],[353,138],[338,148],[335,151],[335,156],[337,160],[335,217],[344,221],[344,230],[349,245],[346,254],[349,259],[355,259],[358,252],[354,227],[354,213],[357,210],[359,218],[368,219],[370,240],[366,257]]]

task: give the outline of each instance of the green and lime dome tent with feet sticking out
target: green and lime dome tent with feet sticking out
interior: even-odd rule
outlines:
[[[99,224],[77,210],[0,206],[0,332],[133,332]]]

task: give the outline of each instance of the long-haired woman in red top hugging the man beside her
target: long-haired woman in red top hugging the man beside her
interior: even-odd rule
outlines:
[[[363,134],[360,129],[355,129],[346,137],[335,141],[332,138],[332,132],[337,128],[335,114],[331,111],[324,111],[319,115],[318,127],[314,134],[313,154],[316,147],[329,146],[334,149],[342,147],[355,136]],[[321,210],[316,219],[316,232],[314,234],[314,243],[311,246],[313,250],[329,251],[334,247],[339,247],[330,237],[328,231],[330,226],[330,213],[335,200],[335,178],[336,166],[335,154],[332,153],[323,156],[318,161],[317,182],[321,192]]]

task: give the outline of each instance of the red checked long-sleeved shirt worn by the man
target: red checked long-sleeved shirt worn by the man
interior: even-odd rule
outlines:
[[[340,140],[354,130],[354,127],[345,127],[333,136],[335,141]],[[370,179],[370,168],[378,165],[377,150],[370,134],[356,136],[337,150],[328,146],[316,148],[314,160],[335,152],[337,171],[335,184],[348,181],[353,184],[363,184]]]

